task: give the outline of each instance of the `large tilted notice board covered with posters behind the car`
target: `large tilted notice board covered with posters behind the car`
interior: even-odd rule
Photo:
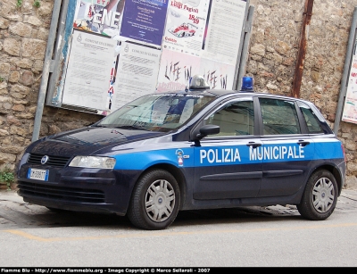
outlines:
[[[237,88],[249,1],[73,0],[47,105],[107,115],[195,74]],[[48,97],[48,94],[47,94]]]

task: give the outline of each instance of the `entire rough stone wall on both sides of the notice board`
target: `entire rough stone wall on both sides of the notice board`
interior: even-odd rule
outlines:
[[[0,2],[0,170],[15,169],[32,138],[37,94],[54,1]],[[291,95],[305,0],[251,0],[253,34],[246,74],[256,90]],[[333,127],[349,29],[357,0],[315,0],[301,97]],[[85,126],[100,117],[45,106],[40,137]],[[357,125],[341,122],[348,175],[357,175]]]

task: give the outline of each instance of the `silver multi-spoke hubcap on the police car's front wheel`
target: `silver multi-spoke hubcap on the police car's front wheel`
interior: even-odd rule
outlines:
[[[167,220],[175,206],[175,191],[165,179],[154,181],[145,194],[147,216],[154,221]]]

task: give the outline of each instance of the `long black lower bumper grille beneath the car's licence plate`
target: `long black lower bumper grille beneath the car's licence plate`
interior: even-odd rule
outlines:
[[[104,192],[97,189],[58,187],[29,182],[18,182],[19,195],[79,203],[104,203]]]

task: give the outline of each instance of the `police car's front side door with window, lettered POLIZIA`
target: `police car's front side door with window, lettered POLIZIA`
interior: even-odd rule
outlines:
[[[230,100],[210,112],[204,124],[220,126],[220,133],[195,146],[194,199],[255,197],[262,180],[262,160],[254,159],[262,145],[252,97]]]

